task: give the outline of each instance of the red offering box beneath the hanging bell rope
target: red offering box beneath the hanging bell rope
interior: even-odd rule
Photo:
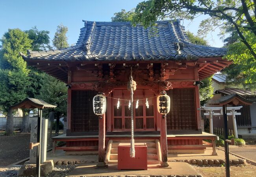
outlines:
[[[148,170],[146,143],[135,143],[135,158],[130,157],[130,143],[118,145],[118,170]]]

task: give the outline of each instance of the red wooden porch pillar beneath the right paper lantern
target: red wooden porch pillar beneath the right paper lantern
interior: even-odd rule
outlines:
[[[160,129],[160,141],[161,141],[161,154],[162,162],[161,167],[168,167],[168,149],[167,149],[167,130],[166,130],[166,115],[161,117],[161,129]]]

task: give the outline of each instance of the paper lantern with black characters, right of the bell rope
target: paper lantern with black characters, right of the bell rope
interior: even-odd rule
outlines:
[[[160,114],[168,114],[170,111],[170,97],[166,94],[160,94],[157,97],[157,109]]]

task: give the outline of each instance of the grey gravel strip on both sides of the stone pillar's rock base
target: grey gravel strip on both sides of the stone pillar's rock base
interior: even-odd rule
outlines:
[[[48,174],[47,177],[65,177],[72,171],[77,165],[56,165],[52,173]],[[0,177],[19,177],[17,175],[20,166],[7,168],[4,171],[0,171]]]

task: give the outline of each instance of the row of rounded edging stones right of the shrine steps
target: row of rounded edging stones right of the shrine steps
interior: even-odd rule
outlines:
[[[169,162],[186,162],[192,165],[213,165],[213,164],[226,164],[226,160],[222,159],[204,159],[204,160],[169,160]],[[229,164],[245,164],[244,159],[229,160]]]

